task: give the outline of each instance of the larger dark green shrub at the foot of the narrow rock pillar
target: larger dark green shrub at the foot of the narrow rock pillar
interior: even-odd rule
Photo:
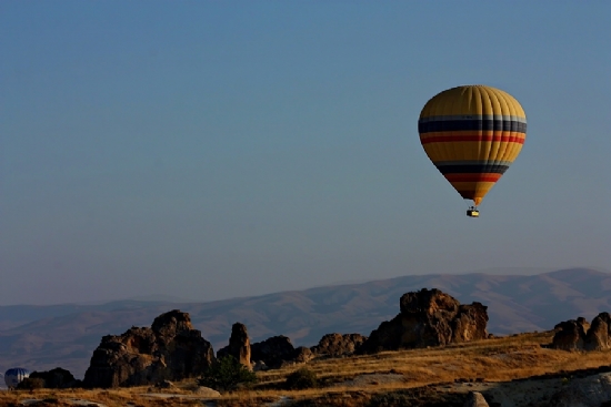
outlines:
[[[202,377],[198,379],[200,386],[219,391],[233,390],[240,384],[254,381],[257,381],[257,375],[230,355],[214,360]]]

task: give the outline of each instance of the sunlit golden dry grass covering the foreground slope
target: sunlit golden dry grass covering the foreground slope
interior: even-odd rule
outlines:
[[[219,406],[261,406],[278,400],[281,396],[292,399],[313,399],[333,397],[338,394],[359,394],[362,403],[369,395],[398,389],[409,389],[431,384],[463,380],[508,381],[545,374],[559,374],[584,368],[611,365],[611,352],[564,352],[544,347],[551,343],[552,333],[522,334],[493,338],[447,347],[384,352],[375,355],[345,358],[318,359],[309,363],[308,368],[318,374],[322,387],[308,390],[286,390],[282,384],[287,375],[296,367],[258,373],[259,384],[223,395]],[[374,381],[354,388],[345,380],[364,374],[402,375],[402,380]],[[381,376],[383,377],[383,375]],[[193,393],[194,383],[184,381],[172,389],[171,398],[147,396],[147,387],[121,388],[110,390],[34,390],[0,393],[0,405],[19,405],[27,398],[48,399],[59,406],[61,400],[81,398],[114,406],[201,406],[201,397]],[[162,391],[162,390],[160,390]],[[163,390],[164,393],[169,393]],[[168,396],[172,396],[168,394]],[[53,400],[58,400],[52,404]],[[357,403],[357,401],[354,401]],[[358,403],[355,405],[358,405]],[[343,403],[342,405],[350,405]]]

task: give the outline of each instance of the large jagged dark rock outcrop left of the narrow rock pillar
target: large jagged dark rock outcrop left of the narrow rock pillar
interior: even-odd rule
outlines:
[[[86,387],[152,385],[200,376],[214,359],[212,346],[178,309],[158,316],[150,328],[132,327],[102,337],[84,374]]]

